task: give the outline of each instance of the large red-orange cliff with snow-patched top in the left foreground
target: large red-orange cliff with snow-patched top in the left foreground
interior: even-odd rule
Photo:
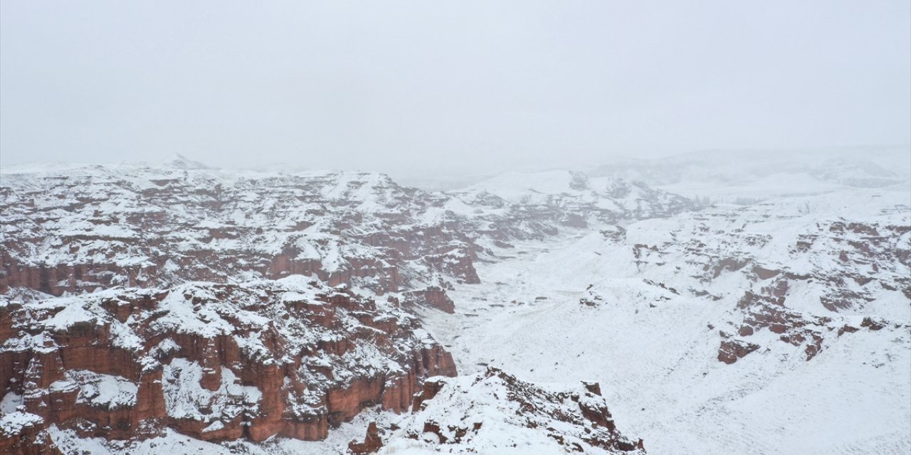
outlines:
[[[326,437],[408,410],[449,353],[393,304],[300,276],[0,303],[0,384],[42,421],[129,439]]]

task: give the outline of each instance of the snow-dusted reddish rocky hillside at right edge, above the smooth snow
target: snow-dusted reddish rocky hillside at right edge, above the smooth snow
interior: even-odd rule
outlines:
[[[882,200],[894,196],[867,191],[855,195],[856,203],[872,213],[826,217],[812,215],[825,209],[811,207],[819,204],[813,199],[707,208],[679,219],[653,237],[657,242],[634,244],[633,257],[668,298],[736,301],[729,325],[719,331],[718,358],[725,363],[763,346],[752,341],[762,331],[803,349],[810,360],[850,323],[841,313],[883,318],[900,314],[895,302],[911,299],[909,207]],[[880,312],[884,307],[890,308]],[[906,324],[904,318],[886,323],[893,329]]]

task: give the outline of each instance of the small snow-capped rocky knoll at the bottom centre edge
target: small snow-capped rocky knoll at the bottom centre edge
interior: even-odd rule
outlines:
[[[552,389],[495,368],[430,379],[415,397],[414,414],[390,436],[388,450],[645,453],[641,440],[634,442],[617,430],[597,386]]]

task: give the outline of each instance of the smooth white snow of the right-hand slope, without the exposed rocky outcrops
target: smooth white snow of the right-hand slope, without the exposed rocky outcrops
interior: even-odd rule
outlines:
[[[901,203],[905,191],[876,191],[875,198],[868,190],[845,190],[774,199],[768,203],[772,210],[791,219],[756,215],[747,229],[773,238],[758,256],[783,261],[784,240],[795,230],[849,212],[873,217],[892,202]],[[752,209],[709,209],[744,210]],[[904,207],[892,217],[907,226],[908,215]],[[539,382],[599,381],[623,431],[643,438],[650,453],[908,453],[907,298],[889,294],[864,308],[834,313],[818,298],[797,296],[789,306],[813,308],[838,322],[856,325],[872,315],[899,327],[824,334],[824,350],[809,361],[800,347],[760,330],[751,340],[762,350],[732,365],[722,363],[717,333],[732,320],[742,278],[722,275],[705,287],[722,297],[718,300],[675,295],[643,278],[681,288],[701,282],[668,271],[673,263],[640,270],[631,254],[632,244],[657,244],[673,227],[691,223],[689,217],[703,216],[635,222],[626,227],[627,241],[619,243],[597,231],[572,231],[501,249],[509,258],[476,265],[483,284],[459,285],[451,293],[455,315],[423,315],[427,329],[451,347],[462,373],[491,365]],[[603,299],[597,306],[579,303],[590,295],[589,287]]]

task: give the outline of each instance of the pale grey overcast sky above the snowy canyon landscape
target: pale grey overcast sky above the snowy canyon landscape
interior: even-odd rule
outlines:
[[[911,2],[0,3],[0,160],[393,174],[911,143]]]

